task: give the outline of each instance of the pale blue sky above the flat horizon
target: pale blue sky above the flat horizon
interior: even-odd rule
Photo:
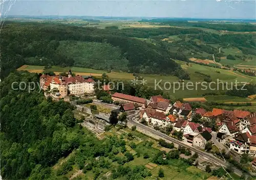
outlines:
[[[12,1],[15,0],[5,0]],[[2,15],[74,15],[112,17],[183,17],[255,19],[256,4],[249,0],[16,0],[4,4]],[[9,10],[7,10],[9,8]]]

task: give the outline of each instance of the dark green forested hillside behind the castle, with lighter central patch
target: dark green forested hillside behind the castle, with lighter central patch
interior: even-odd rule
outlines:
[[[97,69],[107,68],[104,70],[115,68],[127,69],[129,72],[173,74],[181,79],[188,79],[188,74],[184,74],[181,67],[170,60],[167,50],[123,36],[115,29],[101,30],[53,23],[6,22],[2,37],[2,76],[6,76],[11,69],[24,65],[25,59],[32,58],[29,61],[30,65],[50,64],[65,67],[76,64]],[[77,41],[76,44],[72,44],[76,45],[77,49],[69,48],[70,45],[64,45],[61,41]],[[93,54],[85,55],[90,50]],[[73,57],[74,54],[77,55]],[[77,58],[78,55],[81,57]],[[93,64],[92,56],[95,57]],[[117,61],[119,62],[116,63]],[[102,65],[105,62],[107,65]],[[111,66],[113,64],[114,67]]]

